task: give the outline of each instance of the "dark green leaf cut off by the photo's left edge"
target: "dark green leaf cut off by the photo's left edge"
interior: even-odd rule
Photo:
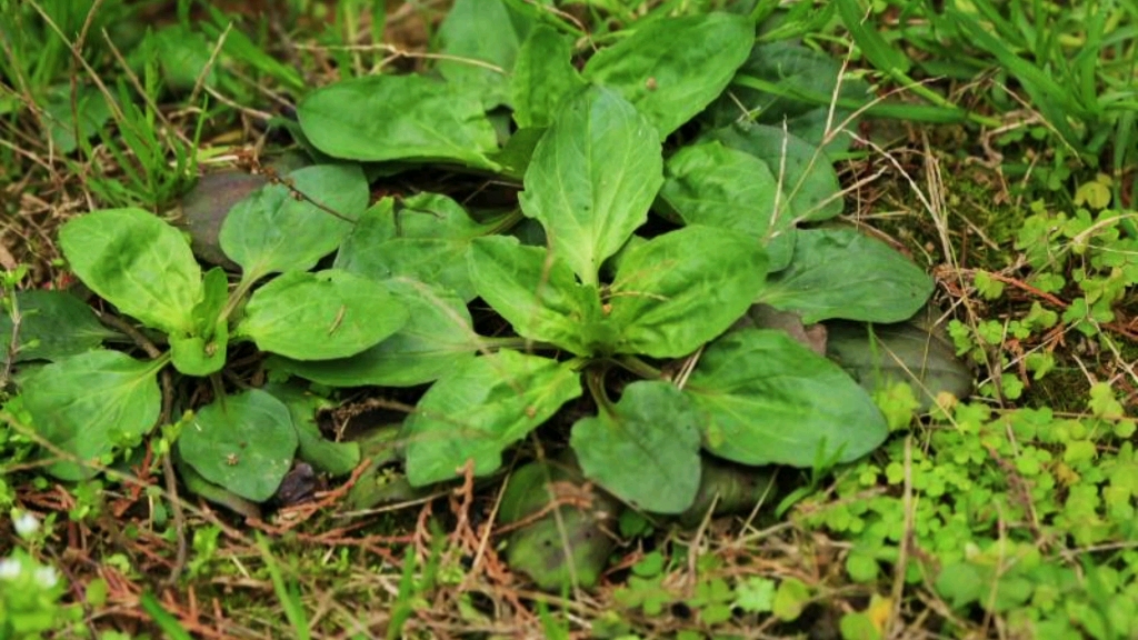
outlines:
[[[104,327],[86,303],[67,292],[16,292],[16,309],[20,320],[14,363],[76,355],[119,335]],[[0,313],[0,344],[6,352],[11,330],[11,315]]]

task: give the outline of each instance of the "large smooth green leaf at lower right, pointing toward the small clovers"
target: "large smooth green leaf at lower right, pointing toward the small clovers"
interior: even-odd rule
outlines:
[[[865,456],[889,429],[838,364],[778,330],[742,329],[700,356],[684,393],[703,412],[703,445],[744,465],[811,467]]]

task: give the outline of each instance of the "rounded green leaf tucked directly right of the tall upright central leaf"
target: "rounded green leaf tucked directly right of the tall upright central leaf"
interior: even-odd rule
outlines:
[[[742,231],[759,240],[770,271],[790,264],[794,220],[767,163],[717,141],[684,147],[668,158],[660,198],[687,224]]]

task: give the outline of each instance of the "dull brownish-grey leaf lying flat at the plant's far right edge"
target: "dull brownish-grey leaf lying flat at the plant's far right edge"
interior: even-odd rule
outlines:
[[[960,399],[972,393],[972,371],[953,343],[915,325],[827,322],[826,355],[869,393],[909,385],[922,411],[942,392]]]

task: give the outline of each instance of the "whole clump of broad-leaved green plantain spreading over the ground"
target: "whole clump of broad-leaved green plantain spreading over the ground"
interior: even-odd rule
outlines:
[[[757,46],[753,16],[653,14],[578,71],[576,27],[520,0],[488,5],[511,31],[479,34],[483,14],[457,2],[442,79],[348,79],[300,101],[292,131],[323,164],[229,210],[220,245],[239,276],[203,273],[185,238],[139,210],[63,228],[79,279],[168,348],[139,360],[88,343],[22,376],[34,427],[77,459],[51,473],[75,479],[90,474],[80,461],[110,461],[156,426],[163,368],[216,379],[240,342],[318,388],[410,389],[401,442],[414,486],[493,474],[583,407],[568,441],[584,475],[660,514],[693,503],[703,456],[811,467],[884,441],[858,381],[748,320],[765,305],[806,325],[899,322],[932,292],[907,259],[834,222],[841,192],[820,147],[846,145],[810,97],[833,93],[836,65],[791,42]],[[764,51],[794,73],[762,66]],[[741,68],[764,82],[740,91]],[[772,90],[803,77],[809,91]],[[843,104],[865,98],[853,89]],[[431,192],[369,203],[365,175],[424,166],[520,180],[518,208],[472,215]],[[471,313],[487,306],[478,327],[493,337]],[[319,448],[312,405],[279,388],[215,395],[184,405],[175,453],[267,500],[298,449]]]

